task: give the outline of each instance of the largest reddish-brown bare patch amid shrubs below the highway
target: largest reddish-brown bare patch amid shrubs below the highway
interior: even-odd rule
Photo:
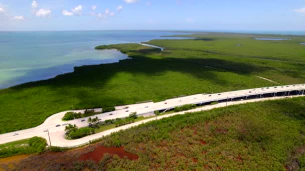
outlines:
[[[79,157],[79,160],[89,160],[92,159],[98,162],[105,153],[109,153],[110,155],[118,155],[119,157],[128,157],[129,159],[136,160],[138,156],[135,154],[128,153],[124,150],[124,147],[105,147],[105,146],[97,146],[94,151],[82,154]]]

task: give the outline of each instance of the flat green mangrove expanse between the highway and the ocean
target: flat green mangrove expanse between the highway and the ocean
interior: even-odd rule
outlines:
[[[100,46],[117,48],[131,59],[75,67],[72,73],[2,89],[0,133],[37,126],[72,106],[115,106],[305,82],[305,45],[297,43],[302,36],[284,41],[254,40],[243,34],[194,36],[200,39],[148,42],[166,47],[164,51],[139,44]]]

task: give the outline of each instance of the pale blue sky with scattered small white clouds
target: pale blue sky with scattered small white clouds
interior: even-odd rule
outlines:
[[[304,0],[0,0],[0,30],[305,30]]]

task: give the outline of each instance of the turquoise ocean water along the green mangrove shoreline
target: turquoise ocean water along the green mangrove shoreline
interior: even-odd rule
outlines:
[[[117,50],[95,50],[101,44],[161,39],[165,31],[37,31],[0,32],[0,88],[47,79],[74,66],[117,62]],[[184,33],[185,34],[185,33]],[[173,37],[174,38],[174,37]]]

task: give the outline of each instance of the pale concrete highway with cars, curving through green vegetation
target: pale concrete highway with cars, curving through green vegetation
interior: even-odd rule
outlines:
[[[283,98],[283,96],[289,96],[289,97],[300,96],[305,94],[304,90],[305,90],[305,84],[296,84],[296,85],[280,85],[280,86],[272,86],[272,87],[252,88],[252,89],[244,89],[237,91],[220,92],[214,94],[195,94],[195,95],[183,96],[178,98],[171,98],[160,102],[145,102],[145,103],[124,105],[124,106],[116,106],[115,111],[97,114],[95,116],[99,117],[101,120],[106,120],[117,117],[126,117],[130,114],[130,112],[137,112],[138,115],[141,115],[146,113],[152,113],[155,110],[164,111],[166,109],[174,108],[176,106],[181,106],[184,104],[203,105],[203,107],[189,110],[189,111],[198,111],[198,110],[211,109],[215,107],[221,107],[225,105],[239,104],[244,102],[261,101],[266,99],[278,99],[278,98]],[[211,102],[215,102],[215,101],[218,101],[220,103],[215,105],[208,105]],[[126,106],[128,106],[128,108],[125,108]],[[84,110],[73,110],[73,111],[84,112]],[[95,111],[101,111],[101,108],[96,108]],[[142,122],[150,121],[151,119],[156,119],[156,118],[150,118],[150,119],[142,120],[140,122],[131,123],[114,129],[106,130],[104,132],[89,135],[80,139],[67,140],[64,138],[65,126],[62,124],[68,122],[71,124],[76,124],[78,127],[84,127],[88,125],[87,123],[88,117],[74,119],[70,121],[62,121],[61,119],[66,112],[67,111],[59,112],[48,117],[44,121],[44,123],[42,123],[37,127],[0,134],[0,144],[16,141],[20,139],[30,138],[33,136],[44,137],[47,139],[49,143],[48,132],[44,131],[46,129],[49,129],[52,145],[77,146],[84,144],[89,140],[93,140],[103,135],[110,134],[111,132],[128,128],[132,125],[137,125]],[[109,115],[110,113],[112,114]],[[183,114],[183,113],[185,113],[185,111],[158,116],[157,119],[168,117],[175,114]],[[85,121],[82,122],[81,121],[82,119],[85,119]],[[61,124],[61,126],[56,127],[57,124]],[[14,133],[16,132],[18,132],[19,134],[14,135]]]

